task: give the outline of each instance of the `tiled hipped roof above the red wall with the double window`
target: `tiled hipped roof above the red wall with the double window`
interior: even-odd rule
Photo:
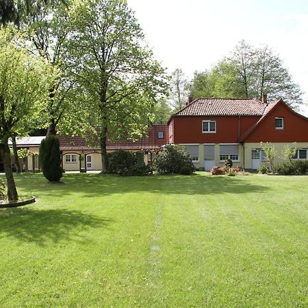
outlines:
[[[265,107],[257,99],[196,99],[172,116],[261,116]]]

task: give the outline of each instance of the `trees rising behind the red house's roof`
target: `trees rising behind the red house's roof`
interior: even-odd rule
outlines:
[[[266,93],[269,101],[281,98],[291,106],[302,103],[300,87],[279,55],[268,46],[255,48],[244,41],[209,73],[196,73],[192,93],[194,97],[256,99]]]

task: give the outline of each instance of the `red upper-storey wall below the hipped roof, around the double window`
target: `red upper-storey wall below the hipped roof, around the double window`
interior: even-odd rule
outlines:
[[[175,116],[172,118],[172,141],[177,144],[237,143],[242,133],[259,118],[260,116]],[[203,120],[215,120],[216,133],[203,133]]]

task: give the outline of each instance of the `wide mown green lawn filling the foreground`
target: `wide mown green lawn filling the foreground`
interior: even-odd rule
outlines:
[[[19,175],[1,307],[307,307],[308,177]]]

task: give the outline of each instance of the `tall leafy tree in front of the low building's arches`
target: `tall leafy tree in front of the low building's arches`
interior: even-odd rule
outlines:
[[[153,121],[164,93],[164,69],[144,45],[144,35],[123,0],[75,1],[67,55],[81,91],[90,98],[98,125],[102,172],[107,170],[107,137],[138,138]]]

